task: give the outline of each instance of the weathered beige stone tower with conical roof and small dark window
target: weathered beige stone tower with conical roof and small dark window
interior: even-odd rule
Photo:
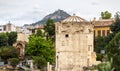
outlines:
[[[83,67],[96,64],[90,22],[73,15],[55,25],[57,71],[83,71]]]

